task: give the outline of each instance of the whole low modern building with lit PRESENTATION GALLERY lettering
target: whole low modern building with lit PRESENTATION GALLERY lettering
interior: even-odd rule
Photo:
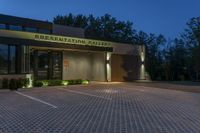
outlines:
[[[142,46],[84,38],[84,29],[0,14],[0,78],[145,79]]]

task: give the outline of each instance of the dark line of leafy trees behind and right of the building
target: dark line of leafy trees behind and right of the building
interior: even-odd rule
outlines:
[[[58,15],[54,23],[84,28],[90,39],[145,45],[146,68],[152,80],[200,80],[200,17],[190,19],[181,36],[172,40],[136,31],[130,21],[118,21],[109,14]]]

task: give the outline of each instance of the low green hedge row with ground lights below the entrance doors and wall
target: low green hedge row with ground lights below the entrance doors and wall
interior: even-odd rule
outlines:
[[[66,86],[66,85],[77,85],[77,84],[88,84],[89,80],[36,80],[33,82],[34,87],[43,86]]]

